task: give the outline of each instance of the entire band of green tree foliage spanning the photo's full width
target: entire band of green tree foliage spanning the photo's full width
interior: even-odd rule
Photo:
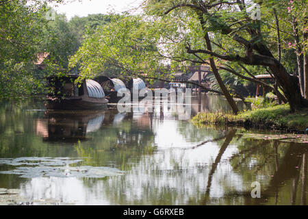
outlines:
[[[307,50],[307,42],[303,40],[303,31],[307,29],[305,1],[257,1],[261,5],[260,21],[253,21],[246,10],[239,10],[239,3],[218,5],[198,14],[196,7],[200,4],[195,0],[146,0],[142,3],[144,13],[139,16],[92,14],[75,16],[67,21],[64,15],[56,14],[55,20],[49,21],[45,18],[50,9],[47,3],[63,1],[31,2],[6,1],[0,5],[0,98],[8,94],[4,87],[11,83],[10,77],[11,94],[18,87],[25,88],[23,94],[30,94],[32,88],[42,86],[46,75],[59,73],[80,72],[83,77],[100,73],[107,76],[146,73],[153,77],[172,78],[168,73],[174,72],[178,66],[207,63],[210,55],[187,51],[188,46],[206,49],[204,31],[209,33],[215,53],[245,57],[246,47],[233,39],[237,34],[253,44],[266,45],[274,57],[278,57],[274,9],[281,29],[281,63],[288,72],[294,73],[297,68],[292,18],[297,19],[303,53]],[[251,3],[247,1],[246,8]],[[204,20],[202,26],[201,17]],[[232,31],[226,34],[229,27]],[[249,29],[257,34],[253,36]],[[50,57],[44,61],[44,70],[36,70],[32,62],[36,60],[36,53],[42,52],[49,52]],[[218,58],[215,62],[217,66],[228,66],[245,77],[267,73],[264,66],[242,64],[245,70],[238,62]],[[166,71],[167,64],[170,65],[169,72]],[[29,81],[22,79],[21,75]],[[231,92],[253,94],[251,82],[226,70],[220,70],[220,75]],[[40,83],[33,85],[36,81]],[[213,88],[216,87],[213,83]],[[36,89],[34,93],[40,90]]]

